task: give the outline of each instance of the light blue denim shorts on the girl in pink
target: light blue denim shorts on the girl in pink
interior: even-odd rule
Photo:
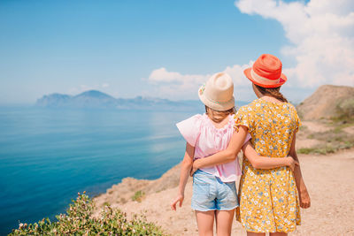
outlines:
[[[239,206],[235,181],[222,182],[218,177],[197,170],[193,175],[192,209],[229,210]]]

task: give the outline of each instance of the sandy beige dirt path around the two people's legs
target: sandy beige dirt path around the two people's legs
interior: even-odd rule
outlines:
[[[328,156],[299,156],[312,207],[302,209],[302,225],[289,235],[354,235],[354,150]],[[148,194],[142,202],[112,204],[128,214],[142,213],[172,235],[197,235],[196,219],[190,209],[191,182],[185,202],[174,212],[169,203],[177,187]],[[232,235],[245,235],[235,222]]]

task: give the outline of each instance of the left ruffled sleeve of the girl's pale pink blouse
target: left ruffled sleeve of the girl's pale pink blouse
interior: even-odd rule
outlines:
[[[200,114],[197,114],[176,124],[183,138],[193,147],[196,147],[196,141],[200,135],[201,125],[202,115]]]

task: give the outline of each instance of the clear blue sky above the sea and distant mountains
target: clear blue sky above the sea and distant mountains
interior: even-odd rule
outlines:
[[[115,97],[196,99],[195,89],[210,74],[250,65],[262,53],[280,57],[300,78],[293,81],[301,81],[294,72],[299,55],[284,52],[301,46],[301,40],[289,40],[289,22],[240,2],[249,7],[257,0],[1,1],[0,103],[35,103],[42,95],[87,89]],[[295,2],[283,4],[292,11]],[[155,80],[151,74],[161,68],[178,78]],[[352,71],[347,73],[350,80]],[[238,83],[241,77],[235,79],[236,98],[250,100],[250,84]],[[283,89],[302,100],[320,84],[293,82]]]

